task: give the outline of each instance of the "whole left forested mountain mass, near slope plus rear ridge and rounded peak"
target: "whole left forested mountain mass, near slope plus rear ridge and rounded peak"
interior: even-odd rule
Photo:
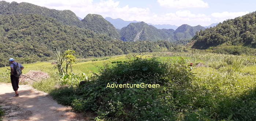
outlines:
[[[113,56],[170,49],[167,41],[124,42],[101,15],[79,18],[30,3],[0,1],[0,67],[7,58],[20,63],[52,59],[56,48],[75,50],[77,57]],[[11,48],[11,49],[10,49]]]

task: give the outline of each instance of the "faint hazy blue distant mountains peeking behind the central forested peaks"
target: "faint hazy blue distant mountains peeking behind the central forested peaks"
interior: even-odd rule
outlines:
[[[138,23],[140,21],[136,21],[136,20],[133,20],[133,21],[125,21],[123,19],[120,19],[120,18],[117,18],[117,19],[112,19],[110,17],[106,17],[105,18],[107,21],[109,21],[110,23],[112,23],[116,29],[122,29],[123,27],[126,27],[128,26],[130,23]],[[156,27],[157,29],[177,29],[178,26],[175,26],[175,25],[170,25],[170,24],[151,24],[149,23],[149,25],[152,25],[154,27]]]

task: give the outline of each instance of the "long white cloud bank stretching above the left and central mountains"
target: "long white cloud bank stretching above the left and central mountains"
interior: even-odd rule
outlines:
[[[12,0],[7,0],[11,2]],[[152,24],[204,24],[211,20],[204,14],[192,14],[190,11],[177,11],[168,14],[154,14],[149,8],[120,7],[119,1],[101,0],[16,0],[18,3],[27,2],[56,10],[71,10],[76,15],[84,18],[87,14],[100,14],[103,17],[121,18],[124,20],[144,21]],[[207,23],[208,24],[208,23]]]

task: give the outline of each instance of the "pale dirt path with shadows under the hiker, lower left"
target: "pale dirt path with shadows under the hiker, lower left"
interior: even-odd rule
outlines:
[[[81,114],[54,101],[47,93],[28,85],[19,86],[19,97],[13,97],[11,84],[0,84],[0,105],[6,110],[3,121],[80,121]],[[86,120],[85,120],[86,121]]]

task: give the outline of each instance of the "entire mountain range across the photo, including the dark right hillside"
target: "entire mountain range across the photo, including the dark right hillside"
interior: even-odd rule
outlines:
[[[170,49],[173,45],[170,42],[186,44],[191,39],[188,45],[195,49],[222,45],[256,48],[255,18],[256,12],[252,12],[211,24],[207,29],[183,24],[175,30],[118,19],[124,27],[116,29],[108,18],[97,14],[81,19],[70,10],[0,1],[0,58],[18,57],[26,63],[38,61],[35,58],[45,61],[57,47],[73,49],[78,57],[153,52]]]

